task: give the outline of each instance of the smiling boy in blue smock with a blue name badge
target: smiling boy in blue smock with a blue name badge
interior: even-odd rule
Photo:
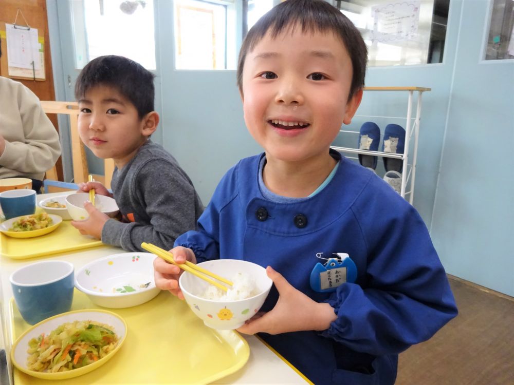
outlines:
[[[245,122],[265,149],[217,186],[178,262],[267,267],[272,288],[241,333],[260,336],[316,384],[393,384],[398,354],[456,316],[416,210],[330,149],[362,98],[366,47],[322,0],[288,0],[248,32],[237,69]],[[183,298],[179,268],[156,284]]]

